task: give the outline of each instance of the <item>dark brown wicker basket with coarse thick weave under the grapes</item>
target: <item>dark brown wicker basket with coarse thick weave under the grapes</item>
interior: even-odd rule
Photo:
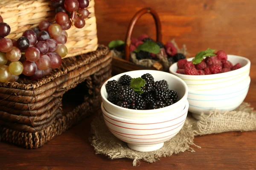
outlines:
[[[24,78],[0,83],[2,141],[38,148],[99,109],[99,91],[111,77],[111,60],[109,49],[100,45],[94,52],[63,59],[60,68],[37,81]],[[63,95],[77,85],[85,96],[80,105],[64,113]]]

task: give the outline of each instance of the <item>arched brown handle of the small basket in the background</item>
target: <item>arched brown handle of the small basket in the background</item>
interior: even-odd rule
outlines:
[[[156,11],[154,11],[152,8],[142,8],[140,11],[138,11],[134,17],[131,19],[131,22],[128,27],[128,31],[126,33],[126,38],[125,38],[125,60],[130,61],[130,45],[131,45],[131,35],[134,30],[134,26],[139,20],[141,16],[144,14],[151,14],[154,17],[154,21],[156,24],[156,30],[157,30],[157,41],[162,41],[162,26],[160,22],[160,18],[157,14]]]

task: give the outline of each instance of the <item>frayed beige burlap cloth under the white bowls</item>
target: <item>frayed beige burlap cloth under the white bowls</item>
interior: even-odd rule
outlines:
[[[244,102],[235,111],[210,111],[207,116],[201,114],[199,120],[188,114],[180,132],[165,142],[160,150],[152,152],[131,150],[125,142],[112,135],[105,125],[102,113],[98,113],[91,123],[90,142],[96,154],[104,154],[110,159],[133,159],[133,166],[139,166],[140,160],[152,163],[160,160],[161,157],[171,156],[186,150],[195,152],[191,146],[199,147],[193,143],[194,137],[198,135],[252,130],[256,130],[256,111],[253,111],[253,108]]]

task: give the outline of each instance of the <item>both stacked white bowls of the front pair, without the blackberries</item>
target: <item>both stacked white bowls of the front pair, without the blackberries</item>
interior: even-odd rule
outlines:
[[[105,88],[108,81],[118,81],[124,74],[137,78],[146,73],[151,74],[155,81],[165,79],[169,89],[177,92],[178,101],[152,110],[121,108],[108,101]],[[111,133],[128,143],[131,149],[141,152],[158,150],[163,142],[172,139],[183,127],[189,109],[188,87],[179,77],[163,71],[139,70],[116,75],[108,81],[101,88],[104,121]]]

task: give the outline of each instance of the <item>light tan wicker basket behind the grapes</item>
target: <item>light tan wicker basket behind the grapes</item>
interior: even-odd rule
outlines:
[[[84,28],[72,26],[68,33],[67,57],[86,54],[95,51],[98,46],[96,17],[94,14],[94,0],[90,0],[87,7],[90,12],[85,20]],[[17,40],[27,29],[38,26],[42,20],[50,22],[55,20],[55,11],[50,0],[1,0],[0,14],[5,23],[11,27],[8,38]]]

